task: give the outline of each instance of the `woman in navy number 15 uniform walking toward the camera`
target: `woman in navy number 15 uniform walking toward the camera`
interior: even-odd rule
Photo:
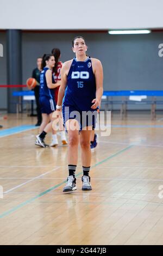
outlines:
[[[62,104],[64,124],[69,138],[69,176],[64,192],[77,189],[75,172],[78,162],[79,142],[82,150],[83,165],[82,190],[92,190],[89,176],[91,165],[90,136],[92,129],[96,125],[97,107],[103,95],[103,69],[101,62],[98,59],[86,56],[87,46],[82,36],[76,36],[73,39],[72,46],[73,52],[76,53],[76,58],[68,60],[62,66],[61,86],[57,102],[59,111],[61,111]],[[64,100],[62,102],[63,97]],[[75,114],[74,111],[76,111]],[[85,121],[83,113],[86,111],[91,113],[92,118]]]

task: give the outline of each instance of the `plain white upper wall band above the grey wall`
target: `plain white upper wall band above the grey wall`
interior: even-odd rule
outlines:
[[[0,29],[162,28],[162,0],[8,0]]]

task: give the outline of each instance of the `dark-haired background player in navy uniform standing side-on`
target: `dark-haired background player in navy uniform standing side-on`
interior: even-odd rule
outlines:
[[[42,113],[42,123],[40,126],[40,134],[36,135],[36,145],[46,148],[44,139],[47,132],[52,130],[54,121],[53,112],[55,111],[54,88],[60,86],[60,83],[54,83],[52,69],[55,64],[53,54],[44,54],[42,57],[42,71],[40,75],[40,108]],[[56,133],[56,131],[55,131]],[[57,136],[55,134],[55,136]]]

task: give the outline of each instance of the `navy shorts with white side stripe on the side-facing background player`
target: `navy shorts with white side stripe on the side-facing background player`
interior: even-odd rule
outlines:
[[[55,101],[47,96],[40,96],[39,102],[42,114],[51,114],[56,110]]]

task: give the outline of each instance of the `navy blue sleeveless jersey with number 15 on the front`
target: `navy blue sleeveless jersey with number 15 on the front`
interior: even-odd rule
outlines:
[[[73,59],[67,75],[67,87],[63,104],[73,106],[78,111],[92,111],[92,100],[96,98],[96,81],[91,58],[85,62]]]

